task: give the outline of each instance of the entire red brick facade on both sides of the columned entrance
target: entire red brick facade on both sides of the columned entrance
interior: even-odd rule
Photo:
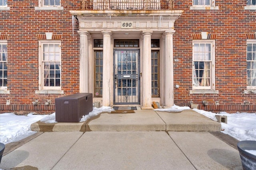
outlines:
[[[164,1],[165,2],[165,1]],[[166,3],[166,2],[165,2]],[[70,10],[79,10],[80,1],[61,1],[64,10],[35,10],[38,0],[8,0],[10,10],[0,10],[0,41],[8,44],[8,90],[0,94],[0,113],[54,112],[54,99],[79,92],[80,36],[78,21]],[[174,104],[189,106],[192,101],[208,111],[256,111],[256,94],[246,89],[246,40],[255,39],[256,10],[244,10],[246,0],[220,0],[218,10],[190,10],[192,0],[175,0],[174,9],[184,12],[176,20],[173,35]],[[62,90],[64,94],[36,94],[38,90],[38,40],[61,40]],[[190,94],[192,90],[192,41],[208,32],[215,39],[215,80],[218,94]],[[10,100],[10,105],[6,105]],[[39,101],[34,106],[32,102]],[[51,100],[51,105],[44,103]],[[207,106],[202,106],[207,101]],[[219,105],[216,106],[216,101]],[[249,105],[244,105],[248,101]]]

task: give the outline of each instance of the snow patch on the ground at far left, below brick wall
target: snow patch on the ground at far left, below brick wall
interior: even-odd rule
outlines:
[[[33,135],[30,131],[30,125],[47,115],[15,115],[14,113],[0,114],[0,142],[10,143],[24,139]]]

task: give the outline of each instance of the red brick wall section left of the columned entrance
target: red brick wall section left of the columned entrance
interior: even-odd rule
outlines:
[[[64,10],[35,10],[38,0],[8,0],[10,10],[0,10],[0,33],[8,35],[8,90],[0,94],[0,112],[54,110],[44,102],[61,95],[35,94],[38,90],[38,34],[61,34],[62,90],[66,95],[79,92],[79,34],[78,22],[72,33],[72,16],[69,10],[80,8],[79,1],[62,1]],[[39,105],[33,106],[34,100]],[[13,106],[6,106],[10,100]],[[1,106],[2,105],[2,106]],[[31,106],[30,106],[31,105]],[[7,108],[7,109],[6,109]],[[34,108],[34,109],[33,109]],[[17,109],[17,110],[16,110]]]

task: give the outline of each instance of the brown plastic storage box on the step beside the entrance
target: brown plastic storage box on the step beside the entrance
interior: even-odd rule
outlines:
[[[55,99],[57,122],[79,122],[93,109],[91,93],[77,93]]]

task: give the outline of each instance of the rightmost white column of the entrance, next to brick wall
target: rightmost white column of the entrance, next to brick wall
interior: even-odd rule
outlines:
[[[174,104],[174,82],[173,82],[173,41],[174,32],[166,32],[165,35],[165,93],[163,94],[165,106],[171,107]]]

